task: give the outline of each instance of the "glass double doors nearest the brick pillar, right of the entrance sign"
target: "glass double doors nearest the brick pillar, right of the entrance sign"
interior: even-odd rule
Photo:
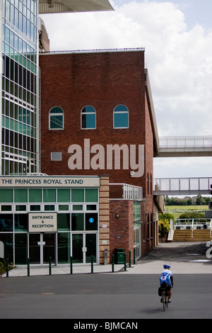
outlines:
[[[74,264],[88,264],[93,256],[97,262],[97,233],[72,234],[72,259]]]

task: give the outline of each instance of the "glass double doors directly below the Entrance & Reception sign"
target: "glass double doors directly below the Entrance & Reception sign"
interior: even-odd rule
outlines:
[[[29,257],[30,264],[49,264],[49,257],[55,264],[55,234],[29,234]]]

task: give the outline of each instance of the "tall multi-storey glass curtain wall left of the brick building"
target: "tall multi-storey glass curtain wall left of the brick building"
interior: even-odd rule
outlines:
[[[37,1],[2,3],[1,174],[38,172]]]

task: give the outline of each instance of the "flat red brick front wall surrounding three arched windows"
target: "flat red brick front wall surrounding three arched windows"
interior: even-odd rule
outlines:
[[[145,144],[144,52],[97,52],[40,55],[41,67],[41,159],[46,174],[85,174],[70,170],[69,145],[90,146]],[[129,129],[113,129],[114,107],[129,108]],[[96,129],[81,130],[81,110],[96,110]],[[64,130],[49,130],[49,110],[64,110]],[[51,162],[51,152],[61,152],[61,162]],[[90,157],[92,155],[90,154]],[[105,156],[106,164],[106,156]],[[111,182],[145,186],[145,179],[132,178],[130,170],[86,170],[107,174]]]

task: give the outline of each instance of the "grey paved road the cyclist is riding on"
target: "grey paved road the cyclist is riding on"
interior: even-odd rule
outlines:
[[[212,261],[206,250],[205,243],[160,244],[119,273],[0,278],[0,317],[73,319],[70,328],[83,319],[141,324],[143,318],[211,318]],[[165,312],[158,296],[163,263],[172,266],[175,283]]]

